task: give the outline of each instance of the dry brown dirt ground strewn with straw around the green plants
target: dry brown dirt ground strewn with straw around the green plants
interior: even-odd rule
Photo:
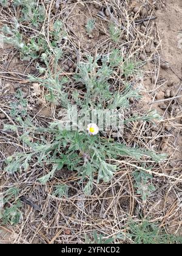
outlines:
[[[75,72],[84,54],[109,51],[112,43],[109,40],[108,20],[113,16],[106,13],[108,1],[62,1],[59,9],[52,6],[54,15],[59,15],[70,32],[66,59],[61,63],[69,76]],[[96,4],[98,2],[98,4]],[[110,5],[112,5],[110,1]],[[120,13],[121,1],[118,4]],[[104,8],[103,8],[104,7]],[[139,7],[143,10],[133,13]],[[98,15],[103,15],[100,18]],[[10,20],[8,10],[0,9],[1,26]],[[107,15],[106,15],[107,14]],[[16,226],[1,226],[0,243],[84,243],[84,235],[93,230],[107,237],[114,237],[129,218],[138,218],[139,212],[153,222],[160,222],[167,233],[182,235],[182,1],[181,0],[138,0],[129,1],[127,13],[129,20],[156,16],[153,21],[137,24],[132,30],[133,40],[124,30],[122,46],[129,49],[141,60],[141,77],[135,87],[140,87],[143,98],[133,102],[131,107],[143,113],[146,109],[157,109],[163,120],[157,126],[147,127],[146,123],[138,123],[132,127],[125,140],[127,144],[137,143],[148,149],[168,154],[168,159],[161,165],[153,165],[154,183],[157,191],[142,204],[140,196],[133,188],[132,166],[123,164],[112,183],[98,185],[96,193],[86,198],[79,191],[76,175],[64,174],[64,170],[55,177],[52,183],[42,186],[35,182],[39,170],[30,169],[21,176],[8,176],[4,172],[3,160],[19,148],[14,135],[1,132],[5,123],[11,123],[8,116],[9,102],[14,101],[18,88],[24,92],[30,105],[32,116],[38,122],[51,121],[53,110],[42,96],[26,79],[26,74],[35,74],[35,66],[29,62],[21,62],[16,49],[5,45],[0,49],[0,172],[1,190],[12,184],[21,188],[21,196],[30,199],[33,204],[23,204],[23,219]],[[96,29],[92,37],[86,34],[86,17],[96,18]],[[117,15],[120,20],[120,15]],[[5,18],[3,18],[5,17]],[[120,20],[121,23],[121,20]],[[130,24],[128,24],[130,26]],[[125,24],[127,26],[127,24]],[[129,30],[130,31],[130,30]],[[29,35],[28,35],[29,37]],[[123,49],[123,48],[120,48]],[[170,98],[170,99],[169,99]],[[171,99],[172,98],[172,99]],[[130,163],[135,164],[135,161]],[[126,171],[127,169],[127,171]],[[69,182],[72,194],[69,199],[56,199],[52,196],[52,187],[58,183]],[[34,205],[34,207],[32,207]],[[121,241],[117,240],[118,243]],[[125,242],[124,242],[125,243]]]

